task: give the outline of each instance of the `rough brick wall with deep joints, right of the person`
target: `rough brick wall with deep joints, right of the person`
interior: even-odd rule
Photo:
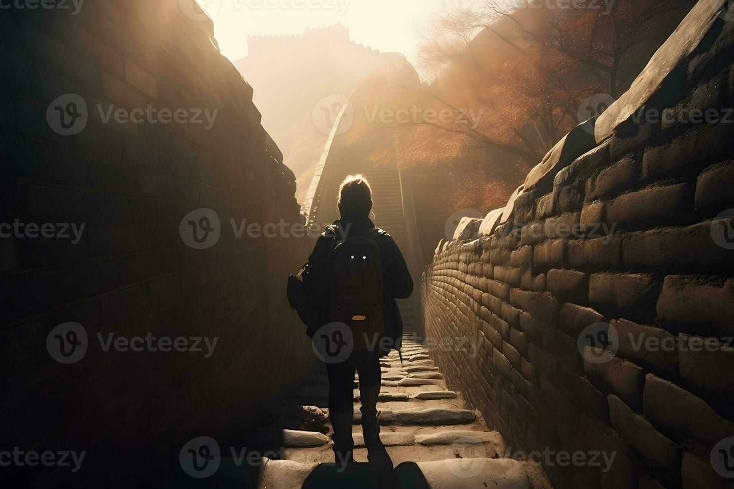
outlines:
[[[645,108],[734,107],[733,14],[707,27]],[[491,235],[442,243],[427,268],[429,335],[479,345],[476,356],[435,348],[437,362],[508,444],[616,452],[607,472],[546,464],[557,488],[732,487],[710,460],[734,435],[727,117],[619,125],[526,188]],[[599,331],[618,341],[586,342]]]

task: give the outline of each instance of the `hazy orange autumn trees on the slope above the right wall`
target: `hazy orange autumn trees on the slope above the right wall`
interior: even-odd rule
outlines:
[[[385,148],[375,161],[426,166],[482,211],[504,205],[559,139],[598,115],[590,99],[625,92],[693,4],[457,0],[424,33],[429,82],[376,75],[370,102],[355,103],[352,136],[388,130],[399,155]],[[401,109],[410,117],[395,117]]]

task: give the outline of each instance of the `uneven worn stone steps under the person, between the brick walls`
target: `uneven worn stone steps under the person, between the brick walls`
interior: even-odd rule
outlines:
[[[377,403],[382,425],[380,438],[396,466],[397,487],[550,487],[539,467],[504,457],[506,445],[501,434],[489,430],[478,412],[467,409],[460,393],[446,388],[443,375],[424,345],[404,339],[402,352],[402,364],[396,351],[381,361],[382,390]],[[333,474],[331,427],[325,407],[328,384],[325,381],[325,369],[316,372],[311,381],[291,397],[297,402],[310,401],[312,404],[301,405],[295,411],[283,408],[279,413],[275,426],[284,429],[284,457],[264,460],[260,488],[324,487],[324,482],[309,482],[318,478],[321,469],[331,471],[335,479],[321,477],[320,480],[337,480],[335,487],[377,487],[376,481],[369,480],[368,464],[360,463],[367,462],[367,449],[359,424],[357,376],[352,419],[357,463],[349,464],[355,467],[342,474]]]

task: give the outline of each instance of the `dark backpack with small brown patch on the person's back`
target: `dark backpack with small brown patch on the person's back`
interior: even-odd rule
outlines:
[[[348,235],[330,254],[325,320],[349,326],[354,351],[379,348],[387,334],[382,252],[376,241],[383,234],[373,227]]]

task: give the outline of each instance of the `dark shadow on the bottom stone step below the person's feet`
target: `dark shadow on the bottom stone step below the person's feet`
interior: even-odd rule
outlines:
[[[415,462],[403,462],[391,474],[381,474],[369,463],[319,463],[303,481],[302,489],[430,489]]]

